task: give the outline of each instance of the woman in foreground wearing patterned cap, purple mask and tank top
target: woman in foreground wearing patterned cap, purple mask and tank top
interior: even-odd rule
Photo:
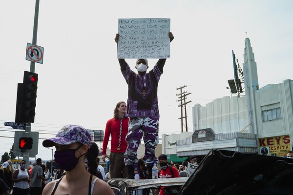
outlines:
[[[48,183],[42,195],[114,195],[110,186],[102,179],[88,173],[84,167],[84,158],[94,160],[90,135],[78,125],[65,125],[56,137],[46,139],[42,145],[55,146],[55,162],[65,170],[65,176]],[[94,148],[94,147],[93,147]]]

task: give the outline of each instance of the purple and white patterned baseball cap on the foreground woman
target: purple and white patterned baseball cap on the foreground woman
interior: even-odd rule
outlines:
[[[58,132],[56,137],[46,139],[42,142],[43,147],[49,148],[56,143],[61,145],[69,145],[72,143],[80,142],[91,147],[91,138],[89,132],[79,125],[65,125]]]

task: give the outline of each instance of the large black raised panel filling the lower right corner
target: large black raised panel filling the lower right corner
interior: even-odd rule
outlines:
[[[293,159],[211,150],[178,195],[293,195]]]

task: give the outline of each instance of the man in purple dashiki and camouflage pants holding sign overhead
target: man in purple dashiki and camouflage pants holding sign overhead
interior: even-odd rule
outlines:
[[[170,41],[174,36],[169,32]],[[116,34],[115,42],[118,44],[119,34]],[[125,59],[118,59],[122,75],[128,85],[127,113],[129,118],[128,143],[125,153],[125,164],[127,166],[127,178],[134,178],[134,169],[137,167],[137,149],[144,137],[145,156],[143,157],[147,166],[147,178],[152,178],[151,169],[157,163],[155,149],[159,143],[159,106],[157,88],[158,82],[163,74],[166,59],[159,59],[152,70],[146,73],[148,68],[147,59],[137,59],[135,68],[138,74],[133,72]]]

